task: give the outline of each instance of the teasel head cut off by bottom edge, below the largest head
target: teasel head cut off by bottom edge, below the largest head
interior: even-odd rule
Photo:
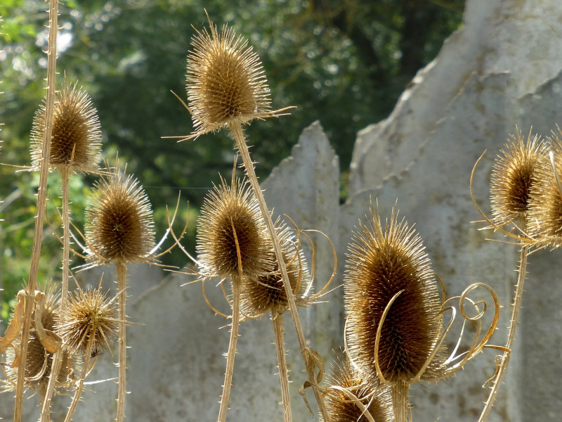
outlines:
[[[367,408],[375,422],[390,422],[393,420],[392,395],[388,385],[370,385],[362,381],[360,373],[354,371],[345,357],[337,357],[332,370],[325,379],[327,392],[324,401],[330,421],[334,422],[367,422],[363,409],[353,402],[353,396],[348,395],[345,389],[357,397],[361,404]],[[338,387],[338,388],[334,388]],[[322,421],[322,416],[320,416]]]

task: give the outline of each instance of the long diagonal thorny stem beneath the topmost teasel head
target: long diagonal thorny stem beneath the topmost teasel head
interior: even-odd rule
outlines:
[[[275,226],[273,225],[271,215],[266,205],[266,200],[263,198],[263,193],[261,192],[261,188],[259,187],[258,178],[256,177],[256,172],[254,171],[254,162],[251,161],[250,154],[248,151],[248,146],[246,145],[246,140],[244,139],[244,132],[242,132],[242,125],[240,124],[240,122],[234,121],[231,122],[228,127],[230,129],[230,133],[232,134],[233,138],[236,141],[236,146],[238,148],[238,151],[240,152],[240,156],[242,157],[242,162],[244,163],[244,168],[246,169],[246,173],[248,175],[251,188],[254,191],[254,196],[256,196],[256,200],[258,201],[261,213],[263,215],[263,219],[266,221],[266,226],[268,228],[269,235],[273,243],[273,251],[275,252],[275,259],[279,264],[279,269],[283,280],[283,286],[285,287],[285,294],[287,295],[287,301],[289,302],[289,311],[293,316],[296,336],[299,339],[301,354],[303,356],[304,364],[306,366],[306,372],[308,373],[308,381],[312,385],[314,396],[316,398],[316,402],[318,403],[318,407],[320,409],[320,413],[322,414],[322,418],[324,418],[325,422],[329,422],[330,421],[329,414],[326,409],[324,399],[322,398],[322,393],[318,388],[318,383],[315,377],[315,365],[311,364],[311,360],[312,360],[311,351],[309,347],[307,347],[306,345],[303,328],[301,326],[301,320],[299,319],[299,313],[296,310],[296,303],[294,302],[294,295],[291,289],[291,283],[289,283],[287,267],[285,265],[285,261],[283,260],[281,245],[279,244],[279,241],[275,234]]]

